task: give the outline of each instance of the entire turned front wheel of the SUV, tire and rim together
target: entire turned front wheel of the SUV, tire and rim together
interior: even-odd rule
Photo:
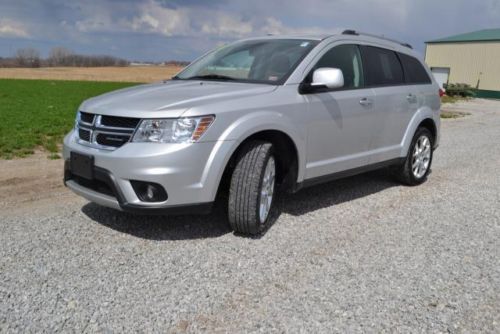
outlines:
[[[231,228],[258,234],[270,218],[276,189],[273,144],[251,141],[241,149],[229,188],[228,215]]]

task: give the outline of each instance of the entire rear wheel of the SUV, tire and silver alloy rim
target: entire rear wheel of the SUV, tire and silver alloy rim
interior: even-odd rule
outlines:
[[[431,132],[426,128],[418,128],[405,162],[395,168],[395,175],[402,183],[413,186],[425,182],[431,170],[433,145]]]

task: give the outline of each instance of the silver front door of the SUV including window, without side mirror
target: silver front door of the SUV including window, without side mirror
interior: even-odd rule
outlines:
[[[326,49],[309,71],[338,68],[344,87],[304,95],[308,103],[306,178],[363,166],[372,134],[373,92],[364,86],[359,47],[342,44]]]

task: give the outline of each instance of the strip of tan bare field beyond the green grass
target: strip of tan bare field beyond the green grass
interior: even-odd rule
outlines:
[[[178,66],[0,68],[2,79],[154,82],[169,79]]]

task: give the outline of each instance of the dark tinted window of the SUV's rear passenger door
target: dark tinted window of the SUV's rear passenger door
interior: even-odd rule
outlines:
[[[390,86],[404,83],[403,68],[395,52],[362,46],[361,53],[367,86]]]

